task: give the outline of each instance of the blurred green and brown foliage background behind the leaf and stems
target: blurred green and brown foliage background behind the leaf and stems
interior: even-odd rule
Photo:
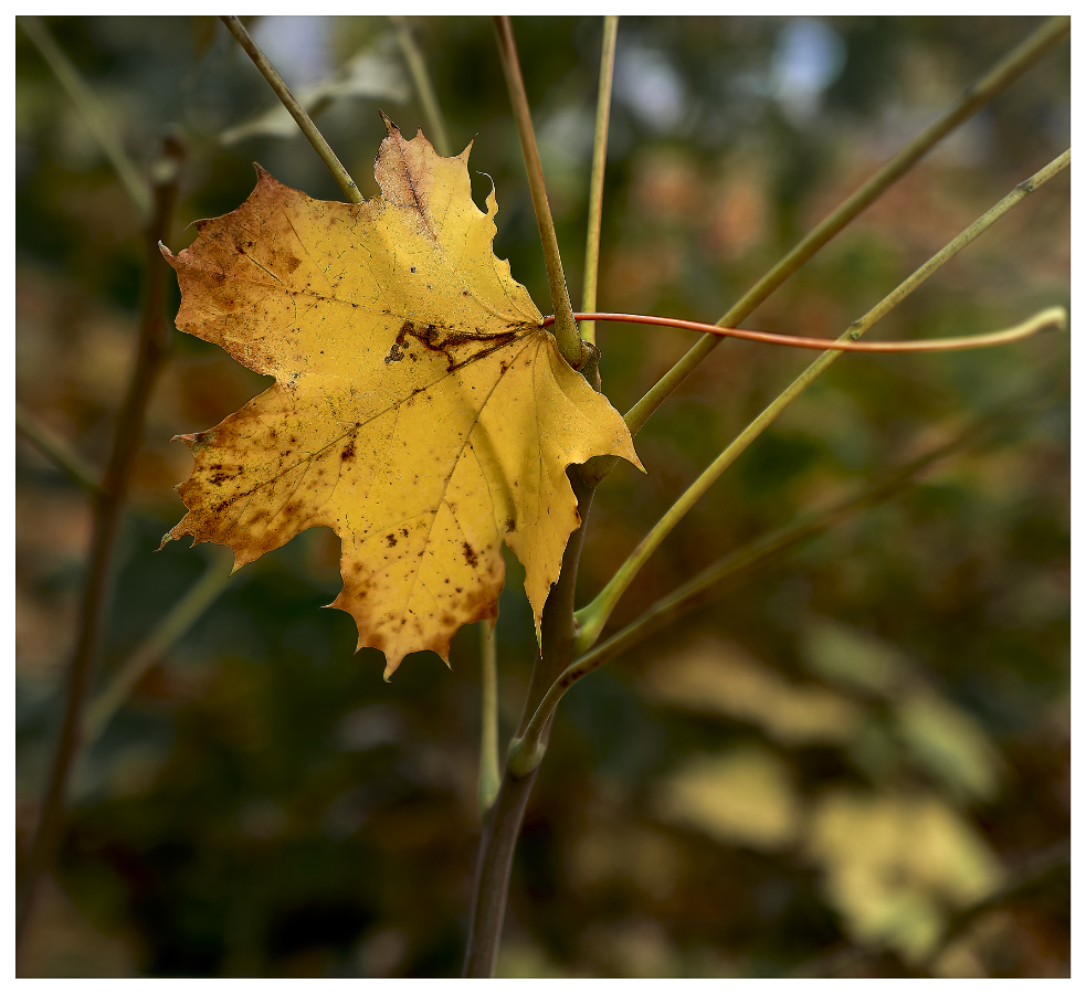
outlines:
[[[623,19],[600,308],[715,320],[1033,18]],[[410,21],[458,150],[497,189],[495,250],[547,281],[485,19]],[[253,160],[339,199],[211,18],[48,27],[140,162],[189,149],[188,222],[232,210]],[[266,18],[254,36],[363,193],[386,109],[423,124],[390,22]],[[599,19],[517,19],[574,300]],[[103,465],[136,341],[138,223],[40,54],[17,32],[17,396]],[[917,166],[750,326],[836,335],[1069,144],[1058,46]],[[491,180],[473,171],[482,202]],[[164,263],[165,265],[165,263]],[[171,307],[176,305],[175,296]],[[1069,303],[1069,183],[1015,209],[876,337],[962,335]],[[171,311],[172,313],[172,311]],[[626,410],[687,332],[603,326]],[[581,602],[810,356],[728,343],[597,498]],[[514,870],[504,975],[1069,975],[1069,340],[841,361],[745,454],[616,612],[653,600],[971,416],[997,426],[911,489],[730,588],[574,688]],[[210,568],[156,552],[182,508],[175,433],[264,385],[176,335],[118,550],[101,688]],[[86,495],[17,447],[18,828],[43,787],[91,532]],[[352,655],[338,543],[313,530],[234,577],[76,770],[30,937],[39,975],[430,976],[458,972],[478,835],[477,637],[452,667]],[[509,559],[504,739],[534,655]],[[1062,869],[1063,867],[1063,869]],[[1053,869],[1054,868],[1054,869]],[[1047,870],[1047,871],[1046,871]],[[1023,884],[1029,886],[1022,886]],[[994,897],[993,897],[994,896]],[[987,902],[985,902],[987,901]]]

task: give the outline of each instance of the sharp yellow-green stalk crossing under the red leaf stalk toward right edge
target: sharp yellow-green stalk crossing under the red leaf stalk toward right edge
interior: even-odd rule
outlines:
[[[854,321],[839,339],[845,343],[848,340],[856,340],[865,335],[876,321],[885,317],[894,307],[902,303],[920,284],[922,284],[937,269],[946,265],[970,242],[985,232],[1011,208],[1019,204],[1034,190],[1050,180],[1053,176],[1066,168],[1071,162],[1071,151],[1065,151],[1062,156],[1050,162],[1040,172],[1032,176],[1025,182],[1020,183],[995,207],[987,211],[981,218],[969,225],[958,237],[945,245],[938,253],[929,258],[919,269],[908,279],[899,284],[892,293],[884,297],[878,304],[867,311],[858,321]],[[1047,325],[1053,321],[1063,320],[1062,308],[1051,308],[1042,311],[1032,321],[1027,321],[1018,329],[1031,325]],[[777,417],[792,403],[808,387],[822,376],[839,358],[842,351],[833,349],[823,352],[814,360],[784,391],[766,408],[750,424],[739,433],[739,436],[709,464],[702,475],[686,489],[686,491],[665,511],[664,516],[653,526],[652,530],[639,542],[637,547],[630,553],[629,559],[619,568],[618,572],[611,578],[608,584],[600,591],[595,599],[577,612],[577,621],[580,625],[576,648],[578,652],[586,652],[595,644],[600,637],[600,632],[607,624],[608,617],[618,604],[619,599],[625,593],[633,582],[634,577],[647,562],[649,558],[660,548],[661,542],[671,533],[672,529],[683,519],[686,512],[696,504],[720,475],[727,469],[739,455],[755,441]]]

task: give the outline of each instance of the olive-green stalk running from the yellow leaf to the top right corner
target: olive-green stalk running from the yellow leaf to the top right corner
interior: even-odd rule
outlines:
[[[866,183],[815,228],[772,269],[758,281],[725,314],[718,324],[734,328],[741,324],[778,287],[808,262],[823,245],[836,235],[862,211],[886,192],[938,141],[973,116],[993,97],[1002,93],[1026,68],[1036,62],[1056,42],[1071,33],[1069,18],[1052,18],[1030,38],[1002,59],[983,78],[976,82],[939,117],[925,128],[905,148],[895,155]],[[656,409],[672,394],[720,343],[718,338],[703,338],[676,362],[652,389],[625,415],[633,434],[644,427]],[[616,462],[616,461],[615,461]],[[610,468],[614,466],[610,464]],[[598,475],[598,473],[597,473]],[[605,474],[604,474],[605,475]],[[602,478],[602,477],[600,477]]]

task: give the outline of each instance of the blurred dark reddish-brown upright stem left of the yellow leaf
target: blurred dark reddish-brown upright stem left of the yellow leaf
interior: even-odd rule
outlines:
[[[72,762],[80,745],[83,701],[94,670],[103,620],[110,592],[116,538],[128,494],[128,479],[144,436],[144,417],[155,380],[170,343],[170,326],[164,319],[170,271],[161,264],[159,241],[169,239],[183,150],[168,139],[164,161],[155,170],[155,215],[148,225],[145,250],[145,293],[139,322],[139,345],[128,394],[117,415],[113,451],[103,482],[104,496],[95,508],[94,538],[87,564],[86,586],[80,613],[80,631],[65,677],[64,710],[49,783],[30,845],[15,908],[17,950],[22,947],[27,923],[42,875],[53,860],[64,821],[64,795]],[[168,166],[172,168],[168,168]]]

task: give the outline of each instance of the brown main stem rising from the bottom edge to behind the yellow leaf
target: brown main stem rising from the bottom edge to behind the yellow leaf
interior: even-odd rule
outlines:
[[[567,472],[567,477],[577,496],[577,511],[581,527],[569,537],[562,554],[558,582],[550,589],[550,596],[547,598],[544,607],[542,649],[531,669],[524,712],[517,728],[518,736],[524,733],[525,726],[535,713],[547,688],[573,658],[573,591],[577,586],[577,567],[584,542],[584,529],[595,490],[586,486],[573,469]],[[539,734],[540,755],[546,749],[549,731],[548,722]],[[506,766],[497,801],[494,802],[483,824],[483,836],[479,839],[476,857],[475,893],[467,930],[464,976],[479,977],[494,974],[494,963],[502,941],[502,924],[505,920],[513,855],[535,779],[536,770],[521,776]]]

